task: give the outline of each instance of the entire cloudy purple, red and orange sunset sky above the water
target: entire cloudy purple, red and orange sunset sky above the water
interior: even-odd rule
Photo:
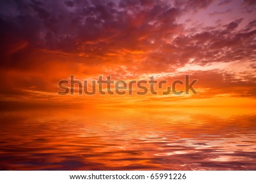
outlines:
[[[256,3],[245,1],[1,1],[3,107],[255,105]],[[60,96],[75,75],[198,79],[198,95]]]

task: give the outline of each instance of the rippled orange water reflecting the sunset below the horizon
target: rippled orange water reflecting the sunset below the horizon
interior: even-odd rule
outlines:
[[[253,108],[2,111],[0,137],[1,170],[256,170]]]

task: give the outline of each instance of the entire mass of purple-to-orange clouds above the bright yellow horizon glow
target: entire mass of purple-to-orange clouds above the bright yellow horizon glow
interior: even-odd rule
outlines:
[[[192,64],[200,66],[255,60],[255,19],[248,23],[244,17],[230,18],[228,23],[188,26],[191,29],[185,28],[191,21],[179,21],[184,17],[192,19],[200,11],[211,17],[235,13],[230,7],[220,13],[209,11],[213,2],[1,1],[0,71],[7,79],[2,79],[6,87],[0,92],[54,92],[53,83],[72,73],[135,78],[175,72],[192,58]],[[230,3],[220,1],[218,7]],[[253,1],[241,4],[248,12],[253,11],[250,7],[254,5]],[[203,20],[200,17],[199,21]],[[255,80],[249,75],[246,79],[250,82],[245,82],[220,70],[195,71],[196,74],[208,79],[216,77],[212,82],[223,80],[225,75],[225,83],[213,84],[211,89],[254,88]],[[204,82],[207,79],[201,86],[208,87]]]

